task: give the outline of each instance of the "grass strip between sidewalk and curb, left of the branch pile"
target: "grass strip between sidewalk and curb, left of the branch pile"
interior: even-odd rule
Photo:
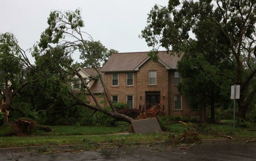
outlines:
[[[95,143],[161,141],[166,140],[167,134],[127,134],[127,135],[77,135],[77,136],[34,136],[34,137],[2,137],[0,148],[39,146],[39,145],[68,145],[82,144],[83,140]]]

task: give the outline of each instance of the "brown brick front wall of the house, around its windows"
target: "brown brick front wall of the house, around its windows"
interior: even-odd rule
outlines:
[[[149,71],[151,70],[156,71],[156,85],[149,85]],[[160,92],[161,96],[166,92],[162,103],[166,114],[188,118],[199,116],[202,120],[202,111],[191,111],[184,96],[182,96],[182,110],[174,110],[174,95],[179,94],[177,86],[174,86],[174,70],[166,70],[165,66],[159,62],[149,59],[139,67],[138,71],[133,72],[133,86],[126,86],[127,72],[115,73],[118,73],[118,86],[112,86],[112,73],[105,73],[106,87],[110,97],[118,95],[119,102],[126,103],[126,96],[133,95],[133,108],[138,109],[139,105],[146,105],[145,92]]]

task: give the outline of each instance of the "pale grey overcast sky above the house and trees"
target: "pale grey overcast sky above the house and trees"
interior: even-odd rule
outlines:
[[[52,10],[74,11],[80,7],[84,31],[94,41],[100,40],[108,49],[119,52],[149,51],[151,48],[138,35],[154,4],[167,6],[168,0],[1,0],[0,32],[12,32],[22,49],[28,49],[40,40]],[[73,58],[79,61],[78,54]]]

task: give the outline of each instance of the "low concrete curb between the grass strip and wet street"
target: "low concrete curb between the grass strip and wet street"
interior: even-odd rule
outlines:
[[[219,142],[231,142],[234,140],[243,140],[245,138],[234,138],[234,139],[203,139],[203,143],[219,143]],[[163,141],[144,141],[144,142],[129,142],[130,144],[149,144],[149,143],[162,143]],[[103,145],[113,145],[116,143],[100,143],[100,146]],[[70,149],[70,148],[79,148],[79,144],[73,145],[49,145],[50,148],[58,148],[58,149]],[[43,146],[25,146],[25,147],[13,147],[13,148],[0,148],[0,152],[19,152],[19,151],[30,151],[30,150],[38,150]]]

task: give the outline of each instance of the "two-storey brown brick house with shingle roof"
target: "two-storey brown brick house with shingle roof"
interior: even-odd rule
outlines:
[[[107,91],[113,102],[127,103],[131,108],[147,109],[160,101],[165,93],[162,105],[165,114],[205,120],[206,110],[192,111],[186,98],[180,95],[177,85],[182,81],[177,72],[177,62],[181,57],[160,51],[158,62],[153,62],[148,52],[113,53],[103,68],[100,68]],[[83,78],[93,79],[97,72],[92,68],[78,68]],[[89,83],[91,91],[103,106],[108,106],[100,81]],[[90,95],[87,101],[94,103]]]

